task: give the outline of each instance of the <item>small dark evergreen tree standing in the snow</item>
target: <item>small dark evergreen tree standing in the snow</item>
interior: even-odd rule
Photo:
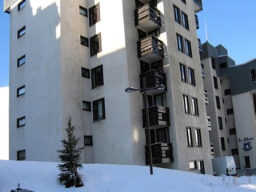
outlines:
[[[63,149],[58,151],[58,158],[60,158],[62,164],[58,164],[58,168],[61,171],[58,174],[58,181],[70,186],[83,186],[81,175],[78,174],[77,168],[82,168],[82,164],[79,163],[81,150],[84,147],[77,147],[80,138],[76,138],[74,135],[74,125],[72,125],[72,118],[70,115],[66,117],[67,127],[66,134],[67,140],[61,140]]]

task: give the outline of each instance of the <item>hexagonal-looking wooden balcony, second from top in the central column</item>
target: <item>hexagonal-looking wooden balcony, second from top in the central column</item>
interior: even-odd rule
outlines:
[[[147,36],[137,42],[138,58],[144,62],[156,62],[163,58],[163,43],[158,38]]]

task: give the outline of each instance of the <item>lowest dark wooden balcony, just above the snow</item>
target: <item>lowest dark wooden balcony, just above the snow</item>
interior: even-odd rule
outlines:
[[[154,164],[174,162],[171,143],[158,142],[151,144],[152,161]],[[146,165],[149,165],[148,146],[145,146]]]

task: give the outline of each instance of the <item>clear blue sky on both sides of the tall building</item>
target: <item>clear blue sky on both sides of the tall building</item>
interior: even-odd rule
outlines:
[[[8,86],[10,15],[2,12],[2,2],[0,0],[0,86]],[[202,0],[202,4],[203,10],[198,13],[201,42],[206,42],[206,20],[210,44],[225,46],[237,64],[256,58],[256,0]]]

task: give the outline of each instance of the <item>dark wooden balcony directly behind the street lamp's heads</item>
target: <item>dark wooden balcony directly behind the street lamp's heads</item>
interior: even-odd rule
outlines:
[[[147,71],[146,73],[141,74],[139,77],[141,89],[143,87],[143,78],[146,78],[146,87],[156,87],[160,84],[166,86],[166,74],[160,73],[158,70]]]

